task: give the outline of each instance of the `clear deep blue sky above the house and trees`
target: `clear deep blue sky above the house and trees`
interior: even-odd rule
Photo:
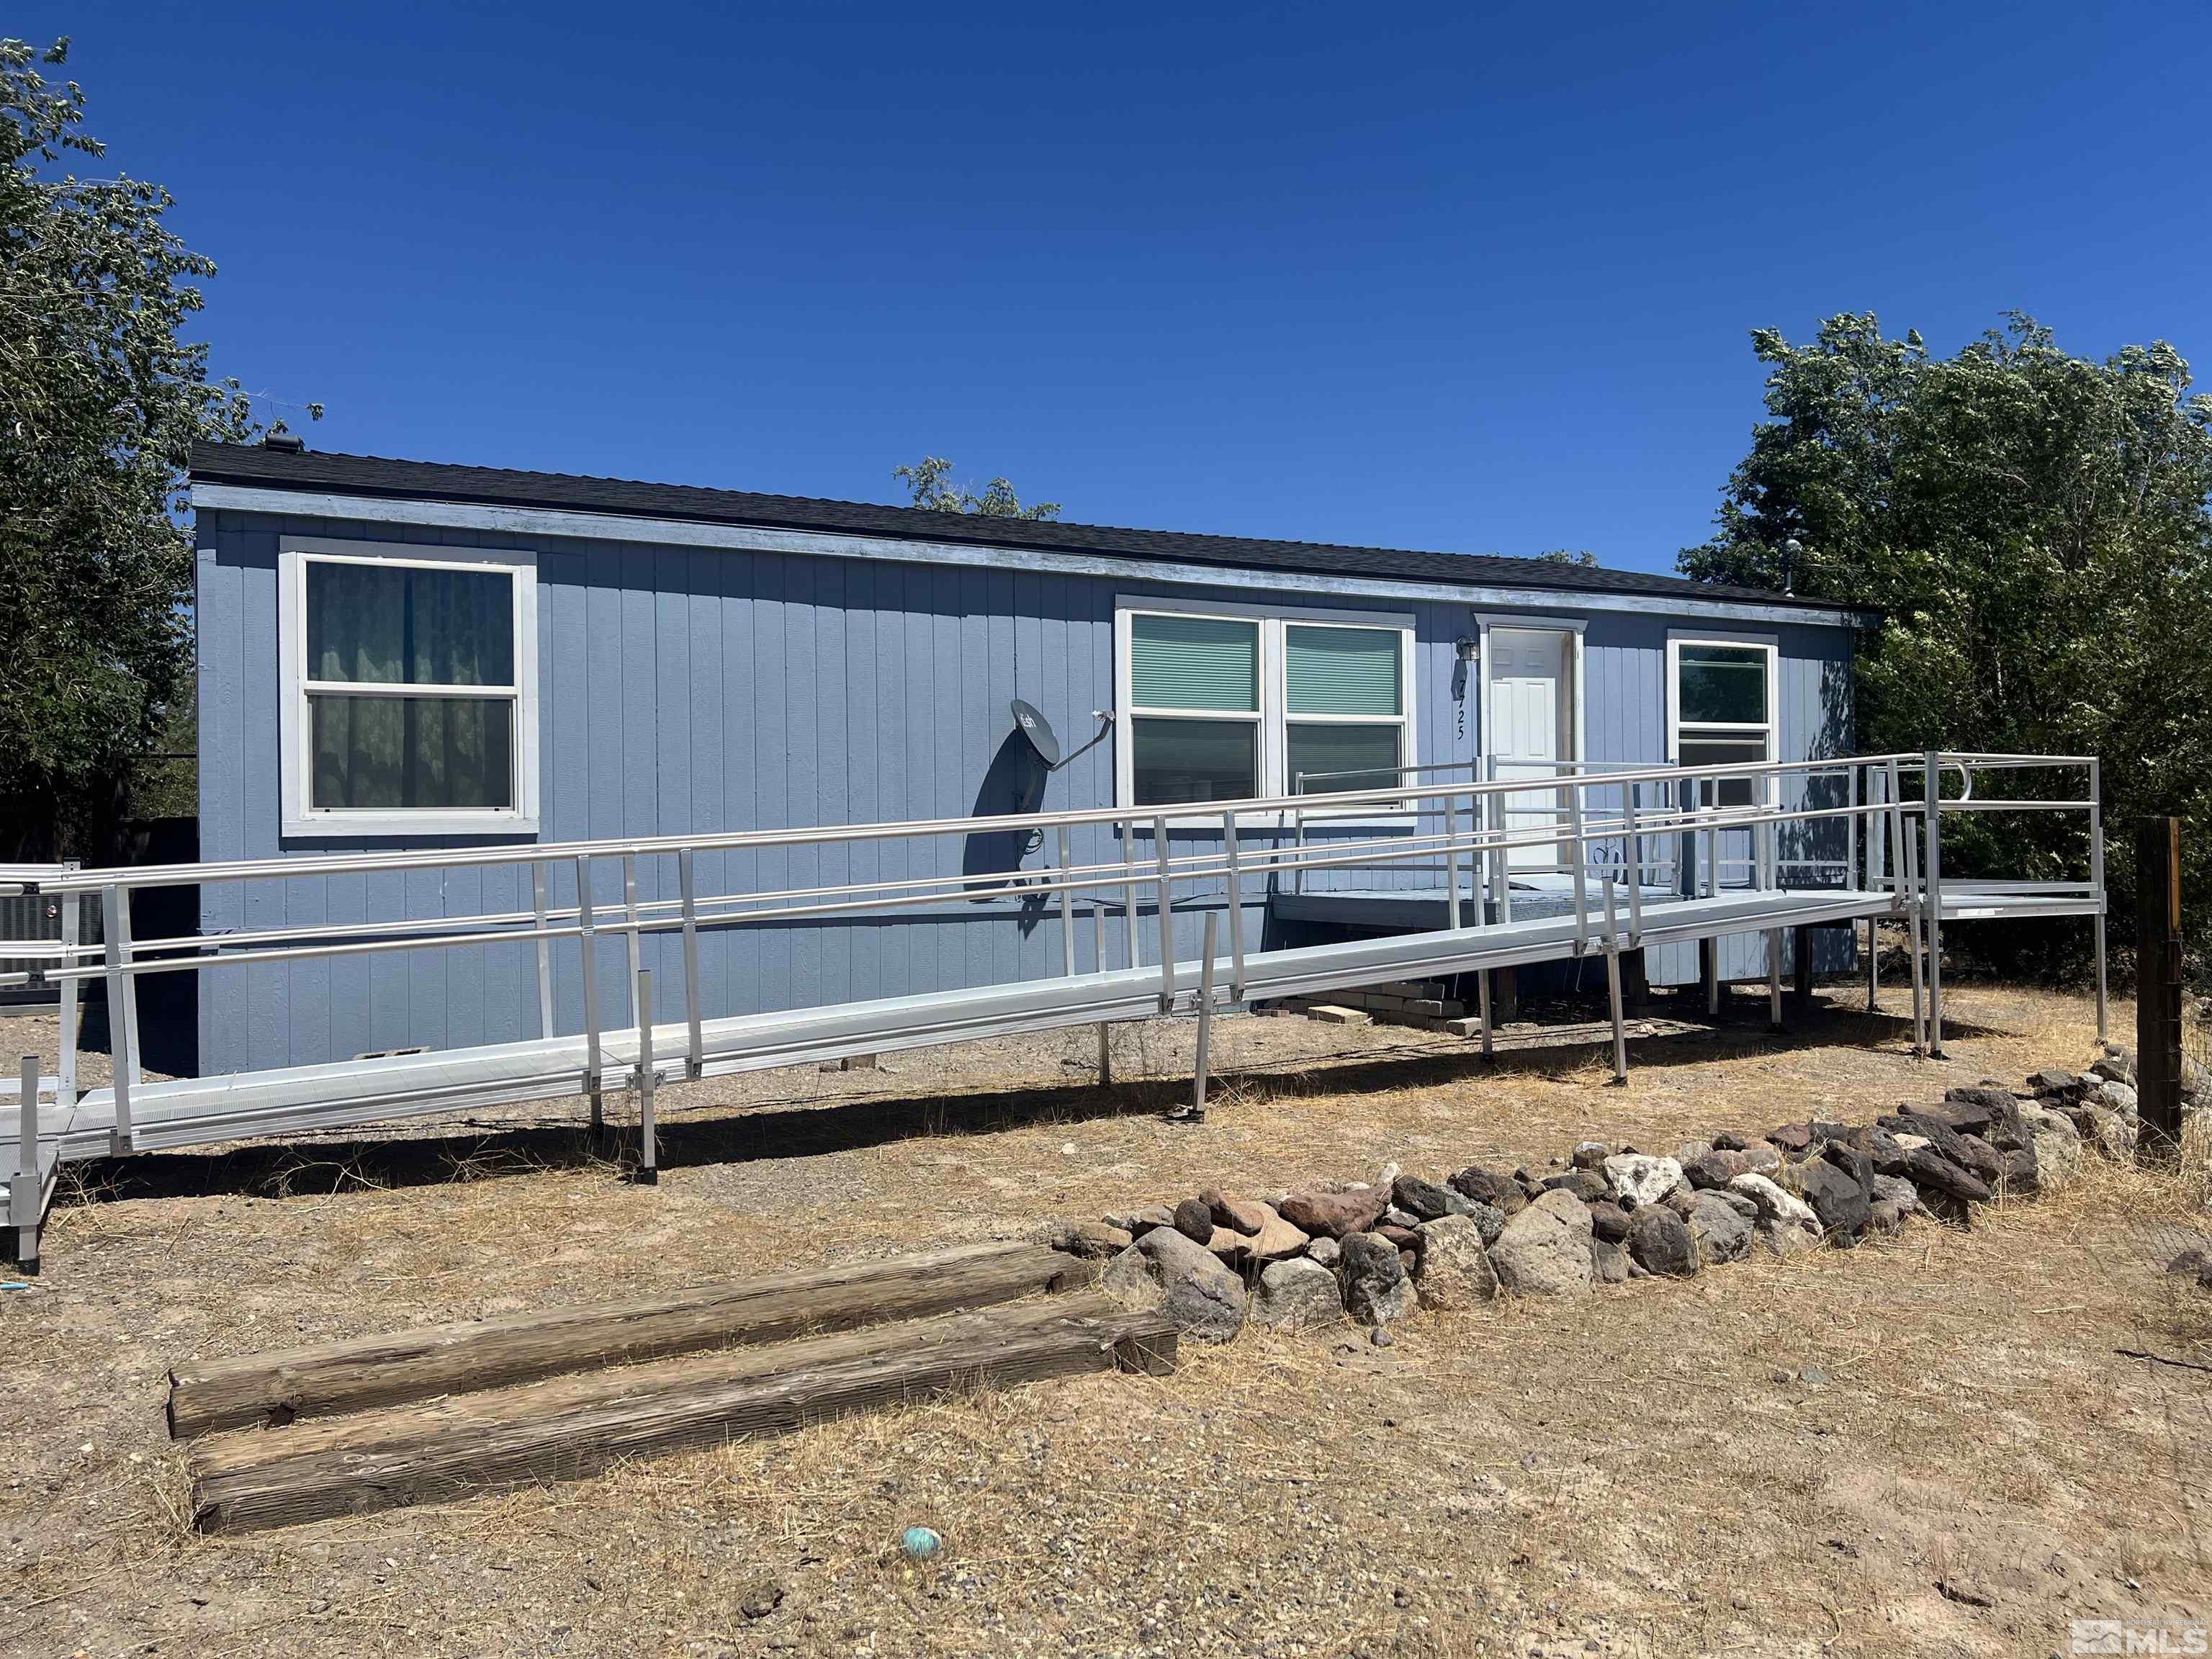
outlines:
[[[1754,325],[2212,369],[2212,13],[18,7],[319,449],[1668,568]],[[274,405],[272,405],[274,407]]]

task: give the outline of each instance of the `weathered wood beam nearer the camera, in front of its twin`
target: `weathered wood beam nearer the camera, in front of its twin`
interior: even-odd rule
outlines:
[[[1166,1371],[1175,1323],[1102,1292],[560,1376],[192,1447],[192,1524],[248,1531],[577,1480],[978,1383]]]

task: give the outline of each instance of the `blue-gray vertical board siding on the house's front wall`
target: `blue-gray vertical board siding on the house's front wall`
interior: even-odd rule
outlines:
[[[538,555],[540,838],[584,841],[714,830],[958,818],[980,799],[993,757],[1013,737],[1022,697],[1046,712],[1062,745],[1097,734],[1093,710],[1115,701],[1113,613],[1121,593],[1203,593],[1110,577],[907,564],[794,553],[641,546],[484,531],[398,529],[349,520],[285,520],[206,511],[199,544],[199,792],[201,856],[471,845],[465,838],[285,838],[279,812],[276,551],[283,535],[515,549]],[[1248,595],[1239,595],[1248,597]],[[1455,675],[1455,641],[1473,633],[1462,604],[1334,599],[1416,617],[1413,748],[1420,761],[1473,759],[1475,668]],[[1666,745],[1666,619],[1588,622],[1586,732],[1593,759],[1659,759]],[[1847,672],[1845,630],[1783,630],[1785,754],[1827,748],[1834,726],[1807,717]],[[1798,661],[1803,653],[1803,661]],[[1113,803],[1113,739],[1077,754],[1046,785],[1048,810]],[[1427,823],[1438,825],[1431,816]],[[1206,832],[1177,830],[1181,843]],[[1374,834],[1329,832],[1338,836]],[[1210,836],[1219,838],[1219,836]],[[1323,838],[1316,832],[1314,838]],[[1110,827],[1075,834],[1079,863],[1119,863]],[[701,896],[812,883],[960,876],[960,838],[838,847],[706,852]],[[1139,876],[1148,832],[1135,836]],[[1055,847],[1022,863],[1055,860]],[[982,865],[969,874],[982,874]],[[619,860],[595,860],[593,905],[619,909]],[[1310,887],[1425,887],[1433,869],[1316,872]],[[555,905],[575,900],[573,867],[549,878]],[[641,900],[675,898],[675,858],[641,858]],[[1179,887],[1179,953],[1199,949],[1201,918],[1223,902]],[[526,911],[518,865],[206,885],[201,931],[276,925],[387,922]],[[1248,940],[1265,905],[1252,883]],[[1137,940],[1157,958],[1157,916],[1139,887]],[[1225,942],[1223,942],[1225,949]],[[628,960],[619,938],[597,945],[602,1020],[626,1022]],[[582,1029],[577,947],[560,942],[555,1024]],[[661,1020],[684,1011],[672,933],[648,936]],[[1077,902],[1077,967],[1128,960],[1119,887]],[[701,933],[708,1018],[909,991],[1044,978],[1062,964],[1057,905],[949,900],[869,916],[830,916]],[[1655,973],[1655,978],[1659,978]],[[1694,978],[1694,960],[1688,973]],[[462,1046],[538,1035],[529,945],[469,945],[299,964],[208,967],[199,975],[199,1053],[208,1073],[343,1060],[405,1046]]]

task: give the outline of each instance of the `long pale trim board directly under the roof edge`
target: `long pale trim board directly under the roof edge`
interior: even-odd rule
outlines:
[[[586,542],[648,542],[655,546],[712,546],[754,553],[810,553],[834,560],[891,560],[898,564],[962,564],[1000,571],[1104,575],[1119,582],[1177,582],[1199,588],[1256,588],[1358,599],[1429,599],[1440,604],[1619,611],[1644,617],[1712,617],[1719,622],[1851,628],[1871,611],[1814,611],[1809,606],[1743,604],[1732,599],[1661,597],[1650,593],[1584,593],[1575,588],[1509,588],[1480,582],[1407,582],[1398,577],[1318,575],[1312,571],[1250,571],[1212,564],[1170,564],[1110,553],[1053,553],[982,542],[907,542],[891,535],[783,531],[754,524],[701,524],[679,518],[573,513],[551,507],[487,507],[332,491],[259,489],[250,484],[195,484],[192,504],[212,511],[332,518],[356,524],[420,524],[425,529],[493,531],[500,535],[562,535]]]

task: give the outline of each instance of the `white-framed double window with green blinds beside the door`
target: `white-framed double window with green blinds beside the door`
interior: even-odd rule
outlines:
[[[1387,790],[1413,763],[1413,619],[1121,597],[1115,799],[1126,807]],[[1192,814],[1194,816],[1194,814]]]

